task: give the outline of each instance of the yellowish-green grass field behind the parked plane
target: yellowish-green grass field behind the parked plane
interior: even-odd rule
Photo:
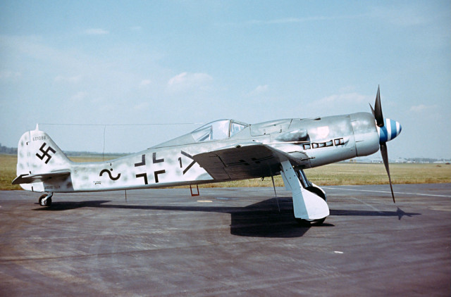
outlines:
[[[74,162],[101,161],[99,157],[70,157]],[[16,178],[17,156],[0,154],[0,190],[18,190],[11,182]],[[386,184],[383,164],[335,163],[305,170],[307,177],[319,186],[340,184]],[[436,184],[451,182],[451,165],[445,164],[390,164],[393,184]],[[280,176],[274,178],[276,187],[282,187]],[[248,179],[237,182],[204,184],[200,187],[273,187],[271,178]]]

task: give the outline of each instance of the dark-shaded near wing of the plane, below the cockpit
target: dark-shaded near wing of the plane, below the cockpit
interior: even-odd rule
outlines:
[[[266,144],[251,143],[219,148],[192,156],[214,179],[248,179],[269,177],[280,172],[280,162],[290,160],[302,165],[309,156],[295,152],[295,156]]]

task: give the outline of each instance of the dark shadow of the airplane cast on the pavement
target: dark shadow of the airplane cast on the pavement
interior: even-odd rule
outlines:
[[[245,207],[218,207],[218,206],[137,206],[124,204],[106,204],[109,200],[97,201],[57,201],[48,208],[36,208],[41,211],[73,210],[77,208],[121,208],[140,210],[169,210],[194,211],[204,213],[229,213],[230,234],[237,236],[292,238],[303,236],[309,227],[302,227],[295,221],[292,210],[292,198],[270,198],[259,203]],[[385,216],[401,217],[407,215],[420,215],[419,213],[404,213],[400,208],[397,211],[375,210],[330,210],[330,215],[356,215],[356,216]],[[322,227],[333,227],[327,221]],[[315,228],[318,228],[315,227]]]

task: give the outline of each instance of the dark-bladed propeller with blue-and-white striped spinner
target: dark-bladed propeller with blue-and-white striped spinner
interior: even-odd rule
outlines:
[[[394,139],[401,132],[401,125],[399,122],[390,119],[384,119],[382,115],[381,106],[381,91],[378,87],[378,93],[376,94],[376,102],[374,103],[374,109],[371,106],[371,111],[373,112],[374,119],[376,120],[376,125],[379,133],[379,145],[381,146],[381,155],[383,160],[383,165],[385,165],[385,170],[387,170],[388,182],[390,182],[390,190],[392,191],[393,203],[395,203],[395,194],[393,194],[392,179],[390,177],[390,168],[388,166],[388,151],[387,151],[387,141]]]

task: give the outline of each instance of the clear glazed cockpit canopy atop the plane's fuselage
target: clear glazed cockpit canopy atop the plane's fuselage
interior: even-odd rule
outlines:
[[[247,126],[249,125],[235,120],[215,120],[195,129],[191,135],[197,142],[228,139]]]

